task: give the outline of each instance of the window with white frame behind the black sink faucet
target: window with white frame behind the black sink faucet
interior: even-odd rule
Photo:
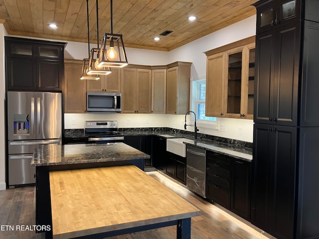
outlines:
[[[192,82],[191,109],[196,113],[197,120],[216,121],[216,117],[205,116],[206,79],[205,76]]]

